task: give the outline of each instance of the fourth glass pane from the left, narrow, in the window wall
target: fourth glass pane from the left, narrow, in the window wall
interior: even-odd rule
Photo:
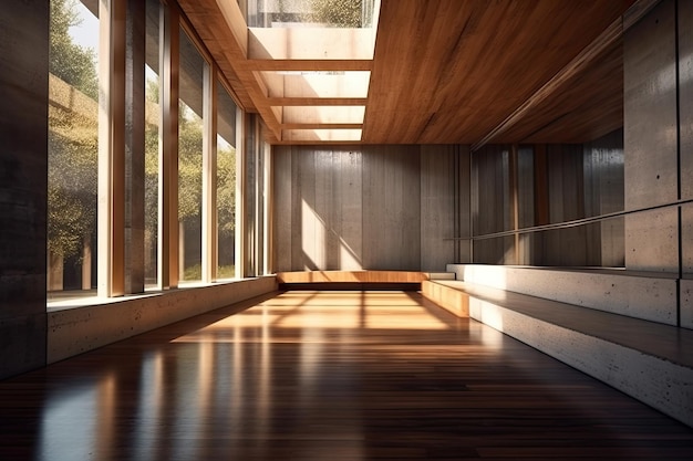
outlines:
[[[217,105],[218,279],[236,276],[236,104],[220,83]]]

